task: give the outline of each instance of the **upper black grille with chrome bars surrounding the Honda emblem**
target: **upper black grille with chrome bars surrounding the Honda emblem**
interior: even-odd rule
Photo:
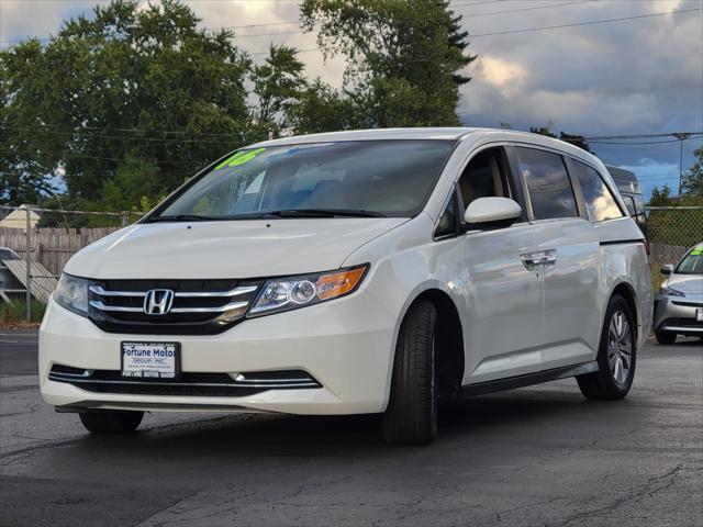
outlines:
[[[89,288],[89,317],[109,333],[209,335],[246,313],[261,282],[238,280],[105,280]],[[174,292],[167,314],[145,313],[149,290]]]

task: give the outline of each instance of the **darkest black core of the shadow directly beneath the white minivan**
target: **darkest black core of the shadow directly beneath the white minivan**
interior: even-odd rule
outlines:
[[[577,392],[517,390],[502,394],[443,401],[439,407],[439,442],[446,434],[490,433],[498,426],[553,422],[574,411],[589,412]],[[145,416],[148,425],[148,415]],[[146,429],[133,435],[90,436],[82,446],[120,445],[131,457],[197,456],[220,458],[227,452],[247,456],[336,456],[353,451],[386,452],[380,415],[294,416],[244,414],[217,416]],[[197,449],[194,449],[197,447]]]

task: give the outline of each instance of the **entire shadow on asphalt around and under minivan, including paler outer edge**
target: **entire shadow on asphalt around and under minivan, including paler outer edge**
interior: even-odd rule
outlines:
[[[164,478],[180,478],[182,471],[188,472],[193,484],[232,480],[237,474],[265,478],[267,473],[270,476],[283,472],[292,484],[297,471],[310,471],[311,463],[320,463],[326,474],[333,470],[372,472],[409,462],[422,467],[425,461],[419,460],[433,452],[460,453],[488,463],[487,445],[543,444],[545,437],[567,445],[581,442],[585,440],[581,431],[585,423],[606,419],[603,413],[616,412],[614,408],[618,406],[623,407],[588,403],[578,390],[542,391],[534,386],[445,402],[439,408],[438,440],[429,447],[386,445],[378,415],[247,414],[211,419],[199,416],[152,428],[147,415],[143,431],[115,436],[86,434],[58,448],[37,452],[30,462],[40,463],[54,478],[70,478],[76,467],[80,467],[86,481],[114,484],[121,481],[156,484]],[[76,426],[80,426],[78,422]],[[509,448],[503,456],[521,456],[521,449]]]

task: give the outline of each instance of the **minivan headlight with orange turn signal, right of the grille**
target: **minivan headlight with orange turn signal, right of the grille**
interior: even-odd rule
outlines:
[[[268,280],[247,316],[268,315],[338,299],[356,291],[368,266]]]

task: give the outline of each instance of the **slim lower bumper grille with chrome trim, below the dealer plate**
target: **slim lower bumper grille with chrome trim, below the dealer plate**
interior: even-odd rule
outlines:
[[[237,373],[182,372],[177,379],[123,378],[115,370],[86,370],[54,365],[49,380],[88,392],[138,395],[196,395],[243,397],[268,390],[316,389],[322,385],[302,370]]]

